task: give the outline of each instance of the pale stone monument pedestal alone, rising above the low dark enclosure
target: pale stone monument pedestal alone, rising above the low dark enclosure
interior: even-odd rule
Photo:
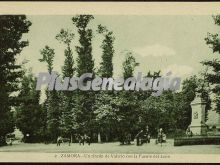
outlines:
[[[207,135],[207,125],[205,124],[205,107],[206,102],[201,99],[200,96],[191,103],[192,107],[192,119],[189,125],[193,135]]]

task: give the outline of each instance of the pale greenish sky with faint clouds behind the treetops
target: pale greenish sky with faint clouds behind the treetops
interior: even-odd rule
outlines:
[[[59,43],[55,36],[62,28],[69,29],[75,34],[71,44],[74,59],[77,57],[75,46],[78,45],[77,29],[72,23],[72,15],[27,16],[32,22],[29,33],[23,39],[29,41],[18,58],[18,63],[24,59],[29,62],[26,68],[32,68],[34,74],[47,72],[41,58],[40,49],[49,45],[55,49],[54,70],[61,72],[64,61],[65,46]],[[219,33],[220,28],[214,24],[211,15],[94,15],[89,27],[93,31],[93,58],[95,67],[99,67],[102,49],[102,36],[96,33],[97,25],[102,24],[113,31],[115,36],[113,57],[114,77],[122,76],[122,62],[125,51],[133,52],[136,61],[140,63],[135,70],[147,73],[161,70],[162,75],[169,71],[173,76],[185,79],[197,75],[204,70],[200,64],[206,59],[217,58],[206,45],[204,38],[207,33]]]

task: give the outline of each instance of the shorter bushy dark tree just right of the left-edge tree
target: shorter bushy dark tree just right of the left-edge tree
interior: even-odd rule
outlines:
[[[16,126],[23,133],[24,142],[40,142],[43,139],[45,114],[39,104],[40,91],[35,90],[36,81],[32,73],[24,75],[18,95],[22,103],[16,109]]]

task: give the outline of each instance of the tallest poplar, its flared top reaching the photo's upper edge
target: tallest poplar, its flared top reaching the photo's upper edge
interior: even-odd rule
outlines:
[[[79,33],[79,46],[76,46],[77,75],[84,73],[94,73],[94,60],[92,57],[92,29],[88,24],[94,17],[92,15],[77,15],[72,18],[73,24]],[[95,93],[93,91],[77,91],[76,121],[77,132],[86,133],[92,136],[94,130],[93,105]]]

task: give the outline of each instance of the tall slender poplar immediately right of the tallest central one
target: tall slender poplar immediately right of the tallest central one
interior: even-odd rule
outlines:
[[[100,68],[98,74],[101,77],[110,78],[113,76],[113,55],[114,55],[114,40],[113,32],[109,31],[105,26],[98,25],[98,34],[103,36],[101,44],[102,48],[102,61],[100,62]],[[112,107],[111,102],[114,99],[114,93],[112,91],[100,91],[96,94],[96,121],[98,127],[98,140],[101,142],[109,141],[115,134],[115,109]],[[103,136],[103,134],[105,136]]]

